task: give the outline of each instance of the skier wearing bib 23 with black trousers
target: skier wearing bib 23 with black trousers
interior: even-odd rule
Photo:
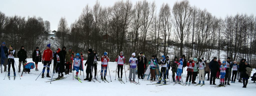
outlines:
[[[118,75],[118,80],[122,80],[122,77],[123,77],[123,67],[124,67],[124,63],[125,63],[125,59],[124,59],[124,52],[121,51],[120,52],[120,55],[118,55],[116,57],[116,62],[117,62],[117,75]],[[121,69],[121,78],[119,76],[119,72],[120,72],[120,69]]]

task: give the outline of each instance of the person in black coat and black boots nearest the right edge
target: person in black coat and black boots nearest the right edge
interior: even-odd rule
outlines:
[[[246,71],[247,71],[246,68],[247,67],[252,68],[252,67],[248,63],[249,63],[248,61],[245,61],[243,68],[242,68],[242,70],[243,70],[242,78],[243,78],[243,85],[244,85],[243,88],[246,88],[246,86],[248,84],[248,79],[250,78],[250,76],[246,73]]]

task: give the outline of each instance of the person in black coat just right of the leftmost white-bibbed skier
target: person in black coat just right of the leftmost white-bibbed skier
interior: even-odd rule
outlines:
[[[23,65],[23,72],[25,72],[24,70],[24,65],[27,63],[26,59],[27,59],[27,51],[25,51],[24,46],[21,46],[20,51],[18,51],[17,54],[18,58],[19,58],[19,72],[20,72],[20,67],[21,67],[21,63]]]

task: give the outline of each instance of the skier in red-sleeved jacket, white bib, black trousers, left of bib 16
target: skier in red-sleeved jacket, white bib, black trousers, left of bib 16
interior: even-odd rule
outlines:
[[[191,83],[191,79],[192,79],[192,74],[193,74],[193,67],[195,67],[195,62],[193,61],[193,58],[189,58],[188,59],[188,63],[187,63],[187,79],[186,79],[186,84],[188,84],[188,78],[189,78],[189,84]]]

